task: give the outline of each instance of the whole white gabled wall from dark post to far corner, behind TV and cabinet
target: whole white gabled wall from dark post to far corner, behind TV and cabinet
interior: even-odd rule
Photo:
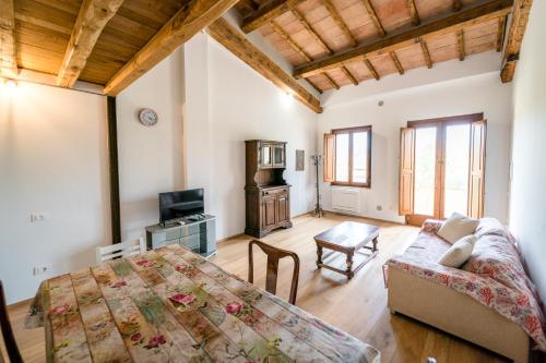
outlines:
[[[138,121],[143,108],[159,122]],[[295,171],[295,149],[316,150],[313,111],[200,33],[117,98],[122,238],[158,221],[157,193],[204,187],[216,237],[245,229],[245,140],[288,142],[292,213],[313,207],[313,173]]]

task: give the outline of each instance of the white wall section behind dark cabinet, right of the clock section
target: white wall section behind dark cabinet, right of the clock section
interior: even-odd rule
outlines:
[[[245,140],[288,143],[292,214],[312,209],[316,113],[205,35],[187,44],[185,66],[188,186],[205,187],[206,209],[218,217],[217,238],[245,229]],[[199,113],[195,105],[207,108]],[[295,171],[296,149],[306,153],[305,171]]]

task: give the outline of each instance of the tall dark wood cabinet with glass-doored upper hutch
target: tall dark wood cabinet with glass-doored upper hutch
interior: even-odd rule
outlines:
[[[286,143],[246,142],[245,233],[262,238],[276,228],[289,228],[290,185],[284,180]]]

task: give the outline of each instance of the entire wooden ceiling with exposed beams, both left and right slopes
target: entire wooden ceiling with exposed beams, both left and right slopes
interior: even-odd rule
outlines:
[[[218,20],[232,7],[294,65]],[[510,82],[532,0],[1,0],[0,77],[117,95],[199,31],[320,112],[318,92],[497,50]],[[508,26],[508,16],[511,15]],[[211,32],[210,32],[211,33]],[[256,55],[258,56],[256,56]],[[256,57],[254,57],[256,56]]]

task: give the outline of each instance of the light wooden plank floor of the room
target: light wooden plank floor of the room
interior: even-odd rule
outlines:
[[[313,235],[344,220],[364,221],[380,227],[379,254],[347,281],[346,277],[330,270],[317,270]],[[465,342],[425,324],[387,308],[387,290],[381,266],[396,253],[402,253],[415,239],[418,229],[357,217],[328,214],[325,218],[301,216],[294,228],[280,230],[263,239],[281,249],[296,252],[301,261],[297,305],[333,324],[358,339],[378,348],[382,362],[424,362],[435,356],[438,363],[491,362],[508,360],[485,349]],[[212,261],[224,269],[247,279],[248,237],[237,237],[218,244],[218,254]],[[288,299],[292,262],[280,262],[278,295]],[[254,281],[265,286],[265,256],[256,252]],[[15,337],[25,362],[45,362],[44,329],[26,330],[24,318],[27,304],[10,307]]]

